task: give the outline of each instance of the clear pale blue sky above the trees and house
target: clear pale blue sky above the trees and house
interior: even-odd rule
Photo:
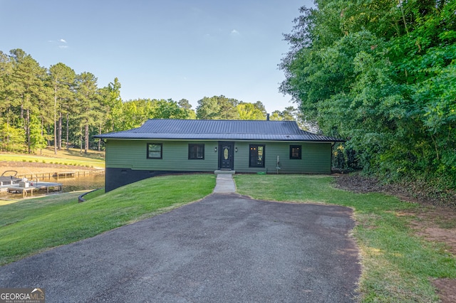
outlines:
[[[43,67],[64,63],[123,100],[225,95],[294,105],[278,70],[300,6],[312,0],[0,0],[0,50],[21,48]],[[296,106],[296,105],[295,105]]]

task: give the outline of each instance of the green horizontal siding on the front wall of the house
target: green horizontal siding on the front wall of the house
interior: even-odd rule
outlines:
[[[147,143],[162,144],[162,159],[147,159]],[[188,144],[204,144],[204,159],[188,159]],[[249,167],[249,145],[265,145],[265,167]],[[302,159],[289,159],[290,145],[302,145]],[[165,141],[108,139],[106,167],[149,171],[214,171],[218,169],[218,141]],[[276,173],[331,173],[331,143],[314,142],[234,142],[234,170]]]

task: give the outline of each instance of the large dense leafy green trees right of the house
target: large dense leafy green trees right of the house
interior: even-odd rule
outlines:
[[[285,35],[280,90],[364,171],[456,188],[455,1],[316,1]]]

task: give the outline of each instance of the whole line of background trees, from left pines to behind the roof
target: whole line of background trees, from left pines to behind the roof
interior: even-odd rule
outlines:
[[[261,101],[204,97],[197,110],[186,99],[123,102],[118,78],[98,87],[92,73],[76,75],[64,63],[41,67],[21,49],[0,51],[0,150],[35,152],[53,147],[102,149],[94,134],[140,127],[147,119],[265,119]],[[286,111],[280,119],[296,119]],[[286,116],[286,118],[284,118]],[[65,134],[66,132],[66,134]]]

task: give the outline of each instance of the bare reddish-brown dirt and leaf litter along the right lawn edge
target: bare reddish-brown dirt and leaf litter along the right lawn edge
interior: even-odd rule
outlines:
[[[398,185],[383,185],[378,180],[358,175],[336,176],[336,187],[356,193],[380,192],[398,197],[401,201],[419,203],[415,211],[398,213],[398,216],[412,216],[411,227],[416,234],[426,240],[445,243],[447,252],[456,255],[456,207],[450,196],[450,203],[438,198],[426,196],[425,193],[410,194],[410,190]],[[444,206],[445,204],[450,206]],[[456,280],[431,280],[443,303],[456,302]]]

